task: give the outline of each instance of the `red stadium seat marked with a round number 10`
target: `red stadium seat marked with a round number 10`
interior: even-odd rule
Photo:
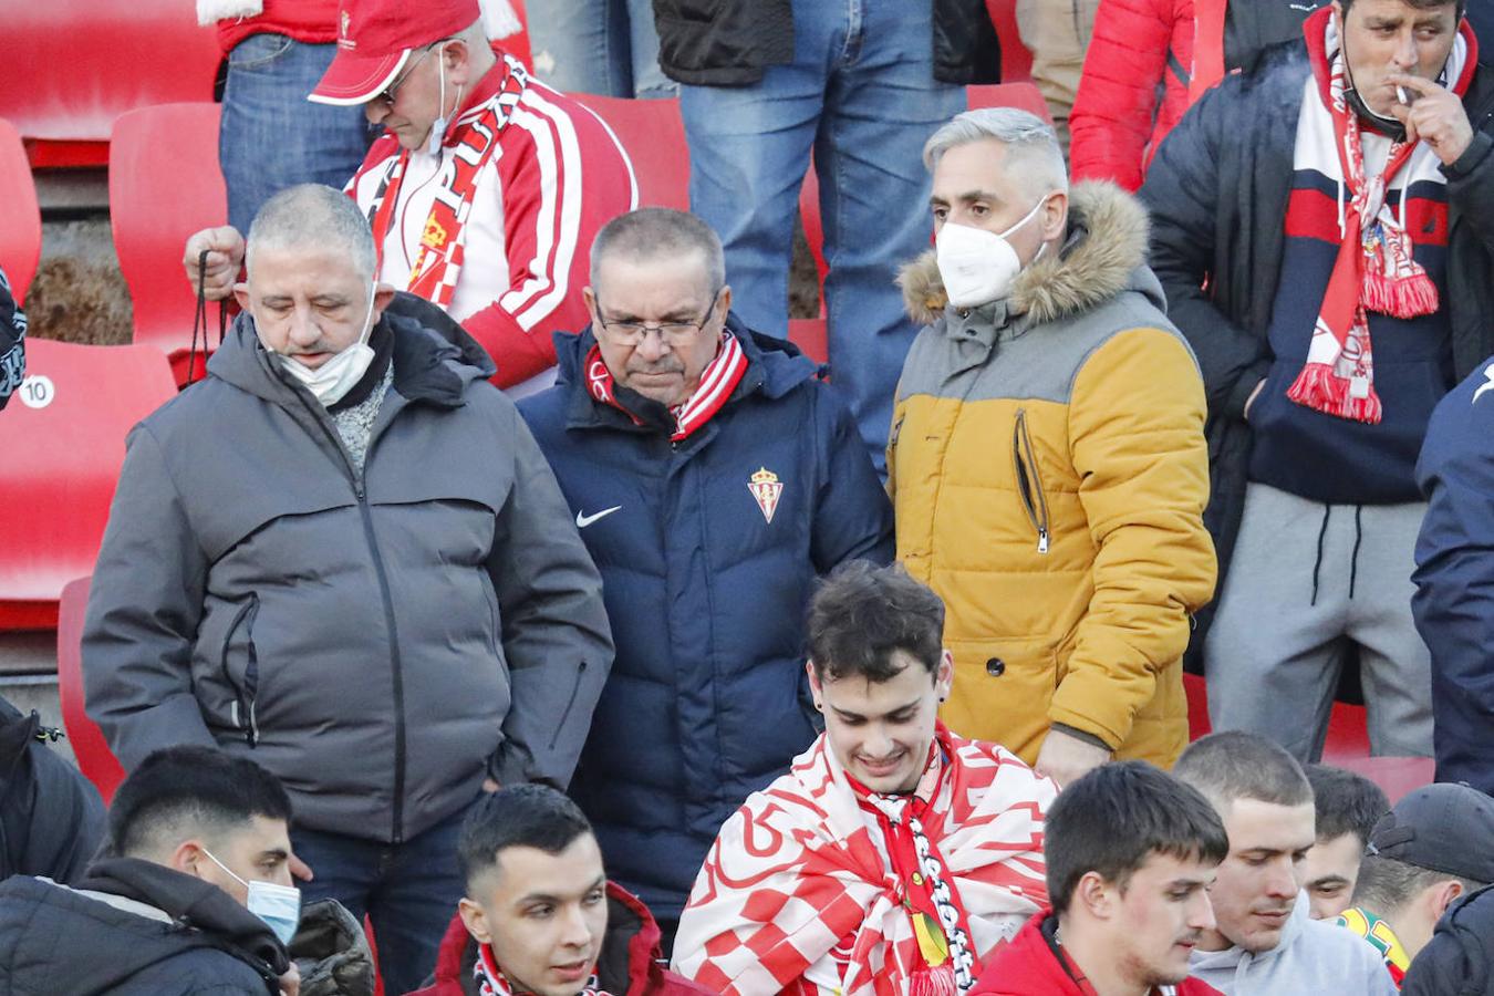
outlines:
[[[27,378],[0,418],[0,629],[52,629],[57,599],[93,572],[124,438],[176,394],[149,346],[27,339]]]

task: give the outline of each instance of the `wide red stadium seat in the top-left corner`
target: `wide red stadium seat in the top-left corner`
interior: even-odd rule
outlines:
[[[211,100],[218,36],[182,0],[7,3],[0,116],[31,164],[103,166],[131,108]]]

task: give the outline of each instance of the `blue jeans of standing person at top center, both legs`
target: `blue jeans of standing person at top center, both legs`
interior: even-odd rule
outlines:
[[[814,151],[835,387],[883,467],[892,396],[917,329],[898,267],[929,248],[929,134],[965,109],[934,79],[928,0],[793,0],[793,63],[751,87],[683,87],[690,208],[726,245],[732,309],[787,334],[799,184]]]

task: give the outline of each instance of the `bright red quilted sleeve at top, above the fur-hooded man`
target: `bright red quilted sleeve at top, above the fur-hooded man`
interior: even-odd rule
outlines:
[[[1073,179],[1141,185],[1173,18],[1173,0],[1101,0],[1068,119]]]

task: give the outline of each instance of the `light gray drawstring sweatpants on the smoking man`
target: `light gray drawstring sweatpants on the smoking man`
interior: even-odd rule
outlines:
[[[1249,484],[1204,642],[1209,718],[1301,762],[1322,756],[1339,670],[1358,645],[1370,753],[1431,756],[1431,659],[1410,617],[1427,506],[1322,505]]]

